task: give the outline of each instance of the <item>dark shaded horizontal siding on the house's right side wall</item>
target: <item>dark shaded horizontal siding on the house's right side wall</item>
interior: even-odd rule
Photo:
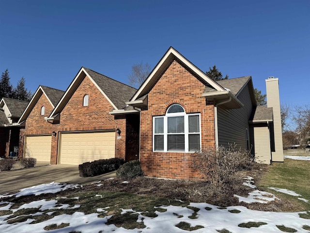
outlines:
[[[238,148],[246,150],[246,128],[249,129],[248,119],[253,108],[248,86],[239,94],[238,100],[244,104],[243,107],[230,110],[221,105],[217,107],[218,146],[228,147],[229,143],[235,143]]]

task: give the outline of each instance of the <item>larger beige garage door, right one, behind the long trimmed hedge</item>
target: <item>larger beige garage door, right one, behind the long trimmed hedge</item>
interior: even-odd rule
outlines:
[[[60,164],[78,165],[115,157],[115,132],[61,133]]]

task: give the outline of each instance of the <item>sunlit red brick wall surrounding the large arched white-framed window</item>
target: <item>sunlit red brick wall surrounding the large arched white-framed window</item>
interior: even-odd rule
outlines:
[[[140,163],[150,177],[198,179],[191,153],[153,152],[153,116],[165,115],[172,103],[186,113],[201,114],[202,149],[215,146],[214,102],[202,97],[204,84],[183,65],[173,61],[148,94],[148,109],[140,113]]]

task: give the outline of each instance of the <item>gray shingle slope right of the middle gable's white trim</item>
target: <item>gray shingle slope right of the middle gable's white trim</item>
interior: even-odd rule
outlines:
[[[120,83],[91,69],[83,68],[118,109],[125,108],[125,102],[129,101],[137,91],[134,87]]]

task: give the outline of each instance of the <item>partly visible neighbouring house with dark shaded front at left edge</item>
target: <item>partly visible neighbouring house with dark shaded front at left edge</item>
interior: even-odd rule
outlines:
[[[0,101],[0,157],[16,156],[19,145],[17,121],[28,102],[2,98]]]

